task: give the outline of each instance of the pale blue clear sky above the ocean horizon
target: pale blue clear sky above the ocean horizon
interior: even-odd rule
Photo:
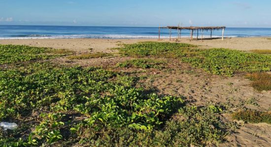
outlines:
[[[0,25],[271,27],[271,0],[0,0]]]

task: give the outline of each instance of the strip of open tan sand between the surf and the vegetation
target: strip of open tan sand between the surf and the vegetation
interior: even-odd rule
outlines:
[[[76,52],[84,52],[94,49],[94,52],[110,52],[110,48],[118,47],[118,44],[133,44],[144,41],[175,42],[172,39],[6,39],[0,40],[0,44],[28,45],[35,47],[50,47],[55,49],[72,49]],[[203,48],[226,48],[226,49],[271,49],[271,37],[245,37],[225,38],[212,40],[192,40],[181,38],[180,43],[199,45]]]

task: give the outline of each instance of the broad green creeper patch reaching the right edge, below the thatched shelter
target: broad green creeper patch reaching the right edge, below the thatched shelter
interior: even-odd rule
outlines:
[[[271,56],[231,49],[204,49],[182,60],[207,72],[227,76],[236,72],[271,71]]]

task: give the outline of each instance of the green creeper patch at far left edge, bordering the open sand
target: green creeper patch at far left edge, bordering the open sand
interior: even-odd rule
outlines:
[[[38,48],[21,45],[0,45],[0,64],[38,59],[51,59],[71,53],[71,51],[66,49]]]

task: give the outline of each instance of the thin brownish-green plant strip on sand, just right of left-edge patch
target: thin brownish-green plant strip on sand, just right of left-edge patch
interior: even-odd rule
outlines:
[[[106,52],[95,52],[68,56],[68,59],[91,59],[91,58],[104,58],[109,56],[113,56],[113,54]]]

